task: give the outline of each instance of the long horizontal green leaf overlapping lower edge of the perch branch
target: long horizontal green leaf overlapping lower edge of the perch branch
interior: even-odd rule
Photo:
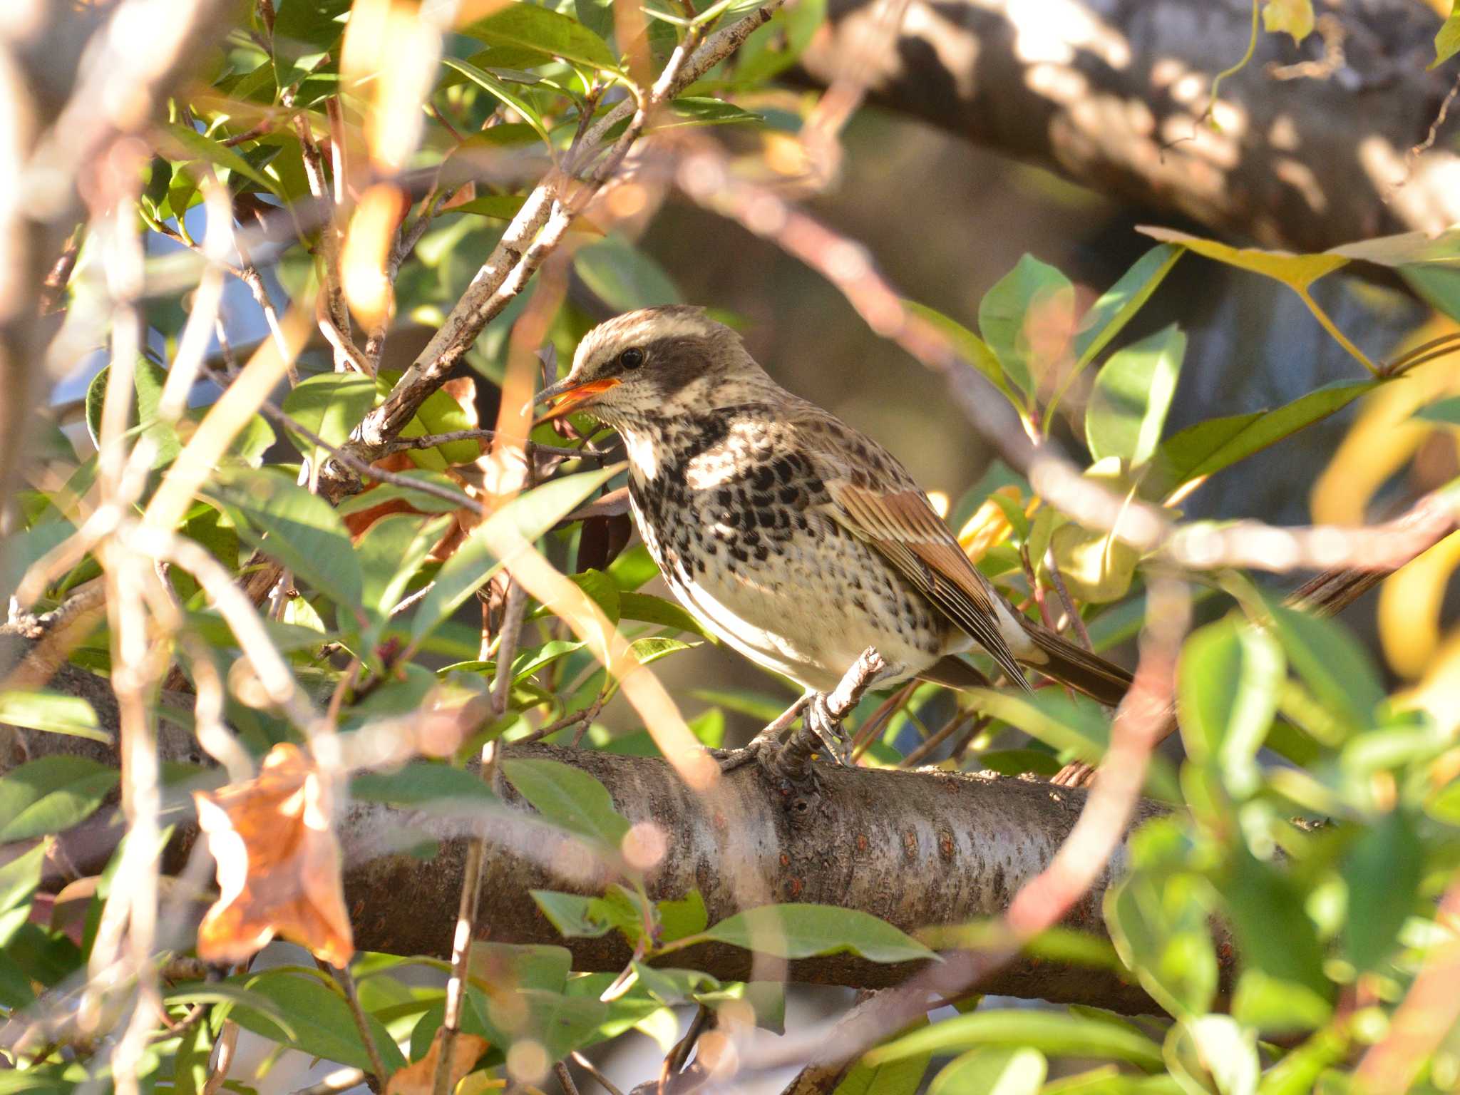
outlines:
[[[885,920],[837,905],[759,905],[721,920],[704,937],[775,958],[810,958],[842,950],[873,962],[936,958]]]

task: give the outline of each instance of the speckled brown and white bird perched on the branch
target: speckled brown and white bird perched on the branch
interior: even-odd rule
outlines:
[[[1132,683],[1018,612],[896,457],[777,384],[699,307],[600,323],[534,403],[553,404],[540,420],[581,410],[618,432],[629,508],[669,590],[707,632],[800,685],[787,717],[804,708],[838,759],[825,701],[869,647],[879,686],[987,683],[958,658],[978,650],[1022,689],[1023,666],[1110,707]]]

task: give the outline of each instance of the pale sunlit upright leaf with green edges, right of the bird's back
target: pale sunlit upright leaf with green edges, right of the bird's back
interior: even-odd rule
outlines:
[[[1155,456],[1184,356],[1186,336],[1174,324],[1111,355],[1085,412],[1091,456],[1120,457],[1130,467]]]

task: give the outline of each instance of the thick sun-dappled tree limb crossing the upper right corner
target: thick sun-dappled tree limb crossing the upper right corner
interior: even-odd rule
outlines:
[[[834,80],[875,41],[880,7],[829,0],[803,74]],[[1213,76],[1247,51],[1251,0],[911,0],[896,48],[872,55],[869,89],[978,145],[1267,247],[1321,251],[1460,220],[1460,158],[1445,142],[1406,162],[1454,79],[1453,64],[1425,70],[1435,13],[1418,0],[1317,10],[1301,47],[1259,34],[1222,80],[1221,131],[1199,120]]]

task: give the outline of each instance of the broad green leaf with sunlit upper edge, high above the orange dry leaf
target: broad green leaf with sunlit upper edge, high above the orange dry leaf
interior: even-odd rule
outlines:
[[[346,612],[362,602],[359,559],[328,502],[273,469],[223,467],[206,488],[244,534]]]

